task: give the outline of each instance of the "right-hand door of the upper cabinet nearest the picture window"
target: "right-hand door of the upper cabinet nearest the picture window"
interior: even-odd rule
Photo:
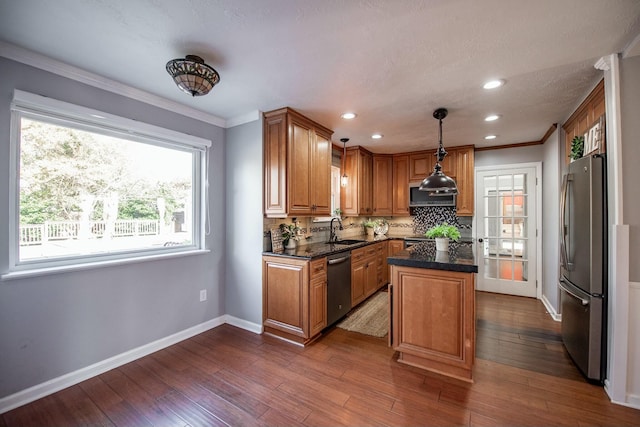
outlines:
[[[313,150],[311,210],[314,215],[331,215],[331,136],[315,134]]]

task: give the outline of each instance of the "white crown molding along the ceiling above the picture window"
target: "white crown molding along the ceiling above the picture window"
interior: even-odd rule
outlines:
[[[136,101],[141,101],[155,107],[159,107],[196,120],[200,120],[205,123],[209,123],[221,128],[227,127],[227,121],[225,119],[214,116],[213,114],[205,113],[195,108],[187,107],[184,104],[180,104],[161,96],[136,89],[129,85],[125,85],[115,80],[111,80],[98,74],[85,71],[81,68],[65,64],[64,62],[57,61],[40,53],[36,53],[31,50],[27,50],[3,41],[0,41],[0,56],[23,63],[25,65],[39,68],[44,71],[48,71],[53,74],[57,74],[62,77],[66,77],[71,80],[75,80],[80,83],[87,84],[89,86],[96,87],[98,89],[103,89],[117,95],[126,96],[127,98],[135,99]]]

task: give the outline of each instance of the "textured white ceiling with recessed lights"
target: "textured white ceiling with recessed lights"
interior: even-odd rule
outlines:
[[[289,106],[377,153],[435,147],[438,107],[445,146],[538,141],[639,33],[638,0],[0,0],[6,43],[225,120]],[[186,54],[221,75],[204,97],[165,71]]]

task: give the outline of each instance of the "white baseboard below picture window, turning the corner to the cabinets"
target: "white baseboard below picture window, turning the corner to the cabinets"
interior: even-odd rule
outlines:
[[[223,315],[199,325],[193,326],[189,329],[177,332],[173,335],[169,335],[168,337],[161,338],[149,344],[145,344],[127,352],[118,354],[109,359],[94,363],[93,365],[87,366],[85,368],[78,369],[77,371],[70,372],[58,378],[53,378],[42,384],[38,384],[25,390],[19,391],[15,394],[3,397],[2,399],[0,399],[0,414],[4,414],[5,412],[15,409],[19,406],[26,405],[27,403],[31,403],[35,400],[63,390],[72,385],[78,384],[89,378],[93,378],[111,369],[117,368],[141,357],[147,356],[158,350],[162,350],[163,348],[179,343],[180,341],[184,341],[188,338],[201,334],[202,332],[213,329],[224,323],[229,323],[233,326],[237,326],[239,328],[246,329],[255,333],[262,332],[261,325],[256,325],[242,319],[237,319],[233,316]]]

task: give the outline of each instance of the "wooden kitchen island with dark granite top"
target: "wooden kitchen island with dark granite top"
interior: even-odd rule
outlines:
[[[389,344],[398,362],[472,381],[475,359],[475,274],[472,243],[412,246],[387,259],[391,267]]]

